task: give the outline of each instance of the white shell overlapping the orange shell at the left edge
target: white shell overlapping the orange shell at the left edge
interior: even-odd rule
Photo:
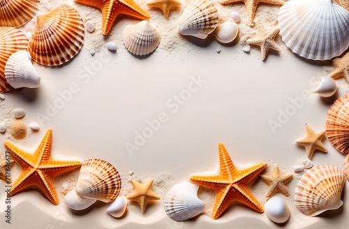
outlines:
[[[5,66],[7,82],[15,89],[21,87],[36,88],[40,85],[40,75],[31,63],[28,51],[19,51],[12,54]]]

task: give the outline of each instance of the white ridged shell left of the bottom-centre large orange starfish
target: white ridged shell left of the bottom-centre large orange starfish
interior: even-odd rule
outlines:
[[[165,197],[163,207],[174,221],[187,221],[205,209],[204,202],[198,198],[197,184],[181,182],[173,186]]]

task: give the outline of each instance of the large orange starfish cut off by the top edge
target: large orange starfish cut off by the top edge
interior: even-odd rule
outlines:
[[[87,6],[94,6],[102,11],[102,34],[107,35],[118,15],[130,15],[141,20],[149,20],[147,10],[143,10],[133,0],[75,0]]]

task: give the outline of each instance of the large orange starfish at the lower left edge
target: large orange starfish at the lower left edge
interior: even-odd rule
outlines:
[[[22,172],[11,188],[15,195],[30,186],[37,186],[54,205],[59,204],[57,191],[54,188],[54,177],[73,170],[81,165],[80,161],[56,161],[51,158],[52,130],[45,133],[43,140],[34,152],[29,154],[13,143],[6,141],[5,146]]]

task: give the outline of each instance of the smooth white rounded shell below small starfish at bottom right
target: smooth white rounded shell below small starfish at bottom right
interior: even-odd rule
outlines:
[[[279,196],[274,196],[265,203],[265,213],[275,223],[285,223],[290,218],[290,209]]]

